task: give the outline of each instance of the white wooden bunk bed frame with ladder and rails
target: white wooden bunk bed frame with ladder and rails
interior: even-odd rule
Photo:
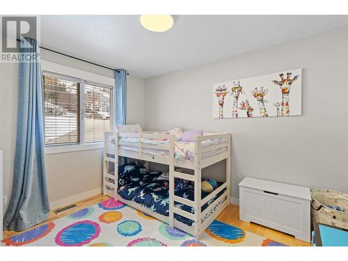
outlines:
[[[126,142],[119,141],[120,136],[123,138],[132,137],[139,138],[139,141],[142,139],[168,139],[168,144],[146,144],[142,142],[134,143],[134,142]],[[125,203],[135,209],[139,209],[142,212],[154,216],[156,219],[159,219],[165,223],[168,223],[171,228],[175,227],[184,232],[187,232],[190,235],[193,235],[197,239],[199,239],[200,235],[205,231],[205,229],[216,219],[221,212],[229,205],[230,202],[230,134],[204,134],[203,136],[196,136],[195,139],[195,154],[194,160],[177,160],[174,157],[175,150],[175,136],[174,135],[166,135],[166,134],[152,134],[152,133],[116,133],[116,132],[106,132],[104,134],[104,164],[103,164],[103,193],[104,195],[111,196],[115,200],[118,200],[122,203]],[[203,141],[211,140],[211,139],[228,139],[228,142],[210,145],[207,147],[202,147],[201,143]],[[114,149],[109,150],[109,144],[111,140],[115,142]],[[138,147],[137,151],[129,151],[122,150],[120,148],[121,145],[134,146]],[[168,156],[166,155],[151,155],[149,153],[142,152],[142,148],[152,148],[158,150],[166,150],[168,151]],[[216,150],[220,148],[226,148],[226,151],[223,151],[217,155],[212,157],[207,157],[202,159],[201,153],[209,152],[210,150]],[[152,212],[148,207],[145,207],[139,203],[136,203],[131,200],[125,200],[121,196],[118,195],[118,170],[116,166],[118,164],[118,156],[127,157],[132,159],[139,159],[145,161],[145,166],[148,167],[149,162],[156,162],[159,164],[166,164],[169,166],[169,216],[164,216],[157,212]],[[221,184],[217,189],[209,193],[205,198],[201,198],[201,172],[202,169],[215,164],[216,162],[222,161],[226,159],[226,182]],[[113,162],[115,168],[112,172],[109,171],[108,162]],[[193,170],[193,175],[177,172],[175,168],[187,168]],[[174,178],[178,177],[183,180],[191,180],[194,182],[194,201],[188,200],[185,198],[181,198],[179,196],[174,195]],[[110,182],[111,181],[111,182]],[[213,203],[211,203],[203,212],[200,211],[200,208],[205,205],[209,200],[214,198],[219,192],[226,189],[226,191],[216,198]],[[223,201],[223,203],[221,203]],[[182,203],[194,208],[194,214],[189,212],[185,212],[182,209],[178,209],[174,207],[174,202]],[[214,210],[215,209],[215,210]],[[174,213],[179,214],[181,216],[186,217],[187,219],[191,219],[193,221],[192,226],[188,226],[180,221],[177,221],[174,218]],[[202,219],[207,216],[207,218]]]

